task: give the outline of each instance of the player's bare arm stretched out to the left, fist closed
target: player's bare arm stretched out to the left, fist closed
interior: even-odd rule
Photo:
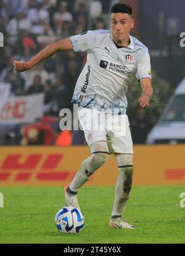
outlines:
[[[49,44],[43,50],[38,52],[32,59],[28,60],[27,62],[14,60],[14,68],[16,72],[23,72],[30,68],[33,68],[39,62],[51,57],[58,51],[67,51],[72,50],[73,46],[70,41],[70,38],[60,39],[54,43]]]

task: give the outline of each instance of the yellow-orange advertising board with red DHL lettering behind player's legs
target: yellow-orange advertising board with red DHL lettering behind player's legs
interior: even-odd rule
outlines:
[[[133,186],[185,185],[185,145],[134,146]],[[63,186],[90,155],[87,146],[0,147],[1,186]],[[85,186],[115,185],[113,155]]]

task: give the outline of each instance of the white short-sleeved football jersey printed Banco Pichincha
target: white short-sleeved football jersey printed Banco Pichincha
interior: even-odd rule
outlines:
[[[70,40],[75,52],[88,52],[72,98],[80,107],[125,110],[131,74],[138,80],[151,78],[148,49],[133,36],[128,46],[119,48],[110,30],[88,31]]]

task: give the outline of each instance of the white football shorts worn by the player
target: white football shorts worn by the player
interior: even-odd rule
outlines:
[[[94,142],[104,140],[107,141],[109,154],[133,154],[133,141],[126,110],[125,113],[118,114],[118,109],[114,109],[110,114],[106,111],[79,107],[78,119],[89,147]]]

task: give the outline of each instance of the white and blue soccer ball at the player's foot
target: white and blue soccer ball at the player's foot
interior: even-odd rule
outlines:
[[[60,233],[79,233],[84,227],[83,213],[72,206],[63,207],[55,215],[55,225]]]

